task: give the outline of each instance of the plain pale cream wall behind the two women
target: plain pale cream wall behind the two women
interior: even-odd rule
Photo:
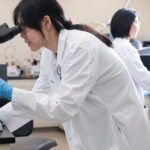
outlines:
[[[13,26],[12,12],[20,0],[0,0],[0,24],[6,22]],[[86,23],[93,25],[94,21],[99,23],[107,22],[114,12],[122,8],[125,0],[58,0],[63,6],[67,18],[74,23]],[[150,0],[132,0],[129,7],[137,10],[141,15],[141,30],[139,35],[150,33]],[[96,26],[96,24],[94,24]],[[97,27],[97,26],[96,26]],[[109,28],[103,30],[108,32]],[[0,63],[5,62],[5,55],[10,57],[15,52],[17,60],[22,63],[26,58],[31,57],[31,51],[20,38],[16,36],[11,41],[0,44]],[[33,55],[33,53],[32,53]]]

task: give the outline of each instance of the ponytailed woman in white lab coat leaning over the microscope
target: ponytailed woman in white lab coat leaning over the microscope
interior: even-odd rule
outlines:
[[[68,22],[55,0],[22,0],[14,21],[33,51],[45,49],[33,91],[0,80],[0,97],[10,99],[0,119],[11,131],[20,117],[58,121],[70,150],[150,149],[149,120],[108,39],[80,31],[85,26]]]

